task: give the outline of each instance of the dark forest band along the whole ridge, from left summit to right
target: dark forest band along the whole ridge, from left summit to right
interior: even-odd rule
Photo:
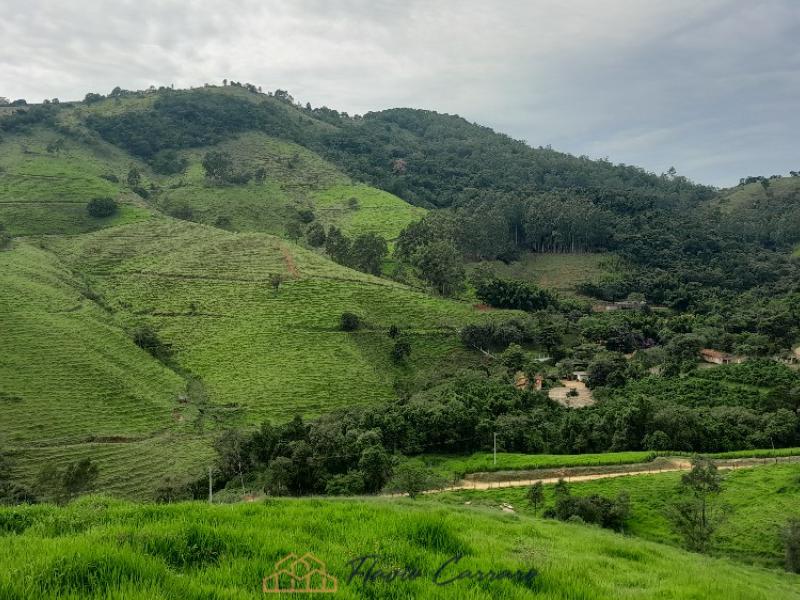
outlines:
[[[126,95],[135,96],[120,92],[121,106]],[[214,144],[256,129],[310,147],[356,179],[425,207],[458,205],[475,192],[579,190],[600,205],[634,208],[674,206],[713,193],[682,177],[532,148],[432,111],[398,108],[352,117],[328,108],[302,108],[285,92],[258,94],[238,86],[164,89],[146,100],[129,102],[132,110],[88,109],[86,123],[106,140],[151,161],[165,151]]]

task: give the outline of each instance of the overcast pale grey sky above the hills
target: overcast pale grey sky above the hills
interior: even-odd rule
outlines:
[[[0,0],[0,96],[250,82],[695,181],[800,170],[798,0]]]

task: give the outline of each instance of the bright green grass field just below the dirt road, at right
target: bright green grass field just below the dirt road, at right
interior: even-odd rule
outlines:
[[[800,517],[800,464],[757,466],[723,473],[721,501],[729,507],[729,513],[713,544],[713,554],[780,568],[783,560],[780,529],[790,516]],[[626,491],[632,509],[626,533],[678,545],[680,540],[670,528],[666,508],[677,495],[680,477],[675,472],[633,475],[571,483],[570,489],[576,495],[609,497]],[[553,503],[552,488],[545,486],[545,505]],[[525,500],[526,491],[527,488],[520,487],[444,492],[431,496],[431,501],[459,505],[471,502],[473,506],[494,507],[494,510],[499,510],[500,503],[508,502],[517,510],[533,514]]]

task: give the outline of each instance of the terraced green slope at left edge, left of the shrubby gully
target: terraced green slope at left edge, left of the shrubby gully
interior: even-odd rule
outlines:
[[[186,479],[210,455],[186,382],[138,348],[85,281],[24,242],[0,252],[0,443],[32,481],[82,456],[127,495]]]

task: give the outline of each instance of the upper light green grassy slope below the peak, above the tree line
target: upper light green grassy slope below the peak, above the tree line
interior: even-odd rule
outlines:
[[[263,182],[215,185],[201,161],[209,151],[232,157],[236,168],[266,171]],[[391,241],[425,210],[397,196],[353,182],[317,154],[263,133],[249,132],[215,146],[181,153],[187,172],[154,176],[164,188],[155,205],[167,213],[191,212],[191,219],[235,231],[260,231],[283,237],[300,211],[311,211],[325,227],[336,225],[348,235],[376,233]]]

